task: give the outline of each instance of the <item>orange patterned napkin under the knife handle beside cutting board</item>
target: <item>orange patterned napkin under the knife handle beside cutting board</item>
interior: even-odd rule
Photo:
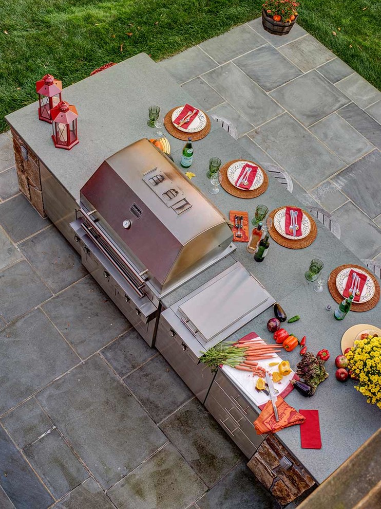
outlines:
[[[276,422],[273,404],[271,401],[266,403],[258,419],[254,422],[254,427],[257,430],[257,435],[263,433],[276,433],[283,428],[288,428],[294,424],[301,424],[306,421],[306,417],[297,412],[295,408],[290,407],[284,399],[278,396],[276,401],[276,407],[278,409],[279,421]]]

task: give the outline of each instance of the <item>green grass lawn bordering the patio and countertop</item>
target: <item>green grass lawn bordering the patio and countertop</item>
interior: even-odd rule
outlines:
[[[67,86],[141,51],[159,60],[260,11],[257,0],[5,0],[0,131],[4,115],[36,99],[47,72]],[[298,12],[300,25],[381,88],[381,0],[304,0]]]

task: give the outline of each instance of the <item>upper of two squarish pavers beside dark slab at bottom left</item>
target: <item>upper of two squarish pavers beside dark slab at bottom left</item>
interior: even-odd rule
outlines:
[[[7,413],[2,424],[21,449],[54,426],[34,397]]]

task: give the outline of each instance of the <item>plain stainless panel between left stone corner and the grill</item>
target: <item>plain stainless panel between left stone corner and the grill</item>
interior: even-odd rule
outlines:
[[[41,161],[40,171],[45,212],[66,240],[80,253],[81,248],[78,242],[75,242],[73,230],[70,228],[70,223],[75,220],[75,209],[78,205]]]

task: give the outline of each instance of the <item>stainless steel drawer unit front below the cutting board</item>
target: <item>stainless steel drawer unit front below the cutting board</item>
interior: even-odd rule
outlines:
[[[253,409],[250,409],[250,419],[252,420],[248,419],[247,413],[245,413],[245,411],[235,403],[235,400],[230,398],[225,393],[225,391],[221,389],[216,379],[211,387],[209,394],[211,394],[216,399],[216,401],[218,401],[221,407],[226,411],[227,415],[230,415],[235,420],[239,426],[239,429],[246,435],[251,443],[255,447],[259,447],[265,436],[257,435],[253,425],[253,422],[257,419],[258,414],[254,412]],[[249,409],[246,409],[246,412],[247,411],[249,411]]]

